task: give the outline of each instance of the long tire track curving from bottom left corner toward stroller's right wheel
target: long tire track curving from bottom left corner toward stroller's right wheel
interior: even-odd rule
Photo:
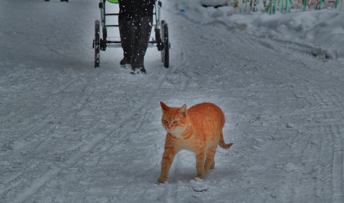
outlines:
[[[34,183],[32,183],[31,185],[26,185],[26,186],[24,185],[23,186],[24,190],[21,193],[17,192],[17,196],[13,200],[13,203],[15,203],[15,202],[23,202],[24,200],[28,199],[32,194],[34,194],[35,192],[40,190],[42,188],[42,186],[47,181],[49,181],[52,178],[56,177],[60,171],[62,171],[63,169],[67,169],[67,168],[71,167],[79,159],[82,159],[83,157],[86,157],[87,156],[87,152],[91,151],[98,143],[100,143],[101,141],[106,139],[110,134],[112,134],[113,132],[115,132],[116,130],[121,128],[121,126],[123,126],[124,123],[126,123],[129,119],[131,119],[133,116],[135,116],[136,113],[138,111],[140,111],[140,109],[142,109],[142,107],[147,108],[147,106],[145,106],[145,105],[155,95],[155,93],[160,89],[161,85],[163,84],[164,80],[168,76],[169,72],[170,72],[170,70],[169,71],[165,71],[165,74],[160,76],[160,78],[157,80],[158,81],[157,82],[158,85],[156,86],[156,88],[153,89],[153,91],[146,97],[145,100],[141,101],[141,104],[139,105],[139,107],[134,108],[134,110],[132,111],[133,112],[132,114],[128,114],[128,116],[126,116],[123,119],[121,124],[119,124],[118,128],[113,129],[113,130],[108,130],[105,133],[98,133],[98,135],[96,135],[91,141],[80,145],[79,147],[77,147],[74,150],[67,151],[67,152],[69,152],[69,154],[72,154],[72,155],[71,155],[71,158],[69,158],[63,164],[64,166],[62,166],[62,167],[51,166],[52,169],[48,170],[45,174],[42,174],[39,178],[35,178],[34,181],[33,181]],[[142,78],[141,78],[141,81],[142,81]],[[141,81],[139,82],[139,84],[142,84]],[[145,112],[147,113],[147,109],[146,109]],[[143,119],[141,120],[141,123],[142,123],[142,121],[143,121]],[[97,125],[94,125],[94,126],[97,126]],[[96,127],[90,128],[89,131],[93,131],[94,129],[96,129]],[[13,187],[12,189],[14,189],[14,188],[15,187]]]

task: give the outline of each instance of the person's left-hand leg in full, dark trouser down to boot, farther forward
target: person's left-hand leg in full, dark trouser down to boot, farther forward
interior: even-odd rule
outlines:
[[[134,19],[132,4],[128,0],[119,0],[118,27],[123,48],[123,59],[119,62],[124,68],[128,68],[134,49]]]

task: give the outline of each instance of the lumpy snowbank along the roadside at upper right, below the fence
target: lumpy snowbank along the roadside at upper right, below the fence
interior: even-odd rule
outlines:
[[[216,1],[215,4],[218,3]],[[197,24],[222,24],[232,32],[301,45],[314,56],[344,58],[343,11],[276,12],[274,15],[257,12],[241,15],[240,9],[233,7],[204,8],[202,4],[211,5],[212,1],[178,1],[173,10]],[[180,10],[184,11],[181,13]]]

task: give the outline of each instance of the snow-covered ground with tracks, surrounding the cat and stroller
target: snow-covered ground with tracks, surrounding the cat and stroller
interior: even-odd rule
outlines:
[[[131,75],[119,48],[93,68],[98,1],[0,1],[0,202],[343,202],[344,12],[162,12],[170,68]],[[160,101],[223,109],[204,179],[181,151],[157,182]]]

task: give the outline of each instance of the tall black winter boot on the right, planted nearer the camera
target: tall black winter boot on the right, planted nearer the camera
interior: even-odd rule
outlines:
[[[152,23],[153,17],[151,16],[139,17],[138,21],[136,21],[137,29],[135,29],[135,48],[133,51],[133,58],[131,60],[131,69],[133,70],[131,72],[132,74],[138,73],[138,71],[146,73],[143,59],[148,47],[149,37],[152,31]]]

